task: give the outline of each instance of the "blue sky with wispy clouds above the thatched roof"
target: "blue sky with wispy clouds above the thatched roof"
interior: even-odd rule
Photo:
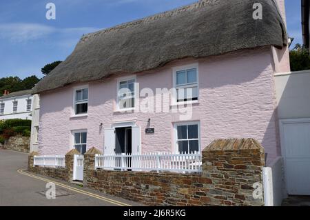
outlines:
[[[0,77],[42,77],[46,63],[64,60],[83,34],[109,28],[196,0],[10,0],[0,1]],[[56,20],[45,18],[47,3]],[[300,0],[287,0],[293,44],[302,43]]]

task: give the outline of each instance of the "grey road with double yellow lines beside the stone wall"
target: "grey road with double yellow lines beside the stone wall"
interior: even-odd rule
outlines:
[[[27,172],[28,154],[0,149],[0,206],[142,206]],[[46,184],[56,185],[56,199],[47,199]]]

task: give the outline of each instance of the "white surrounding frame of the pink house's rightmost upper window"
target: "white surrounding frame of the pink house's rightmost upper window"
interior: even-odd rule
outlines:
[[[176,89],[176,72],[181,71],[181,70],[189,70],[189,69],[195,69],[197,70],[197,97],[198,100],[194,101],[199,101],[199,65],[198,63],[192,63],[189,65],[184,65],[184,66],[176,66],[172,68],[172,77],[173,77],[173,88]],[[196,83],[195,83],[196,84]],[[176,100],[177,94],[172,94],[172,103],[170,106],[178,106],[178,101]],[[185,103],[191,103],[193,101],[182,101],[180,105],[184,105]]]

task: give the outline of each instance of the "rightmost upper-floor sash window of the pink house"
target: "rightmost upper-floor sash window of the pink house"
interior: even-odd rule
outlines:
[[[198,68],[178,68],[174,71],[176,102],[198,100]]]

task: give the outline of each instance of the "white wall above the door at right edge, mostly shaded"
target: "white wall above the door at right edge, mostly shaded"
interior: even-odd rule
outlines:
[[[279,119],[310,118],[310,70],[276,74]]]

